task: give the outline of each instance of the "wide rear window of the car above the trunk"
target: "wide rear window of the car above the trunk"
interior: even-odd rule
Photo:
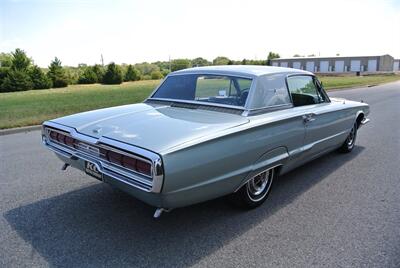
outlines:
[[[251,82],[251,79],[234,76],[173,75],[161,84],[152,98],[201,101],[243,107]]]

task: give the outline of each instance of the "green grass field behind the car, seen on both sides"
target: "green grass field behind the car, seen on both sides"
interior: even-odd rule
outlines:
[[[326,89],[375,85],[400,75],[321,77]],[[0,129],[36,125],[44,120],[98,108],[140,102],[159,80],[122,85],[73,85],[62,89],[0,93]]]

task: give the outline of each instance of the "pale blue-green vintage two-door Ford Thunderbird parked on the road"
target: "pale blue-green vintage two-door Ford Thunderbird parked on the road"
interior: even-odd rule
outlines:
[[[169,74],[143,103],[43,123],[65,163],[162,211],[231,194],[253,208],[279,174],[338,149],[369,120],[310,72],[213,66]]]

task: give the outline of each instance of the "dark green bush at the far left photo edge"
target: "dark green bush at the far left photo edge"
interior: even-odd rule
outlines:
[[[2,92],[24,91],[32,89],[32,80],[29,75],[21,70],[11,69],[3,79],[0,90]]]

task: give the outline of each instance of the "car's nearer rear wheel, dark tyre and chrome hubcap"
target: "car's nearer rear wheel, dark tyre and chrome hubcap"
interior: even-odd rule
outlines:
[[[272,182],[277,176],[274,168],[267,169],[252,177],[236,193],[234,199],[245,208],[256,208],[268,198]]]

